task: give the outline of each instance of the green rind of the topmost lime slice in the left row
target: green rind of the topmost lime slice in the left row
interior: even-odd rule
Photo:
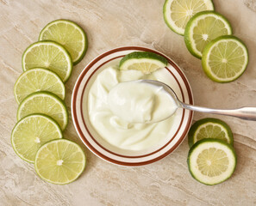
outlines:
[[[83,34],[83,38],[84,38],[84,48],[83,48],[82,53],[78,56],[78,58],[76,58],[76,59],[73,60],[73,65],[76,65],[76,64],[78,64],[78,63],[84,58],[84,56],[85,56],[85,53],[86,53],[86,51],[87,51],[87,49],[88,49],[88,39],[87,39],[87,34],[84,32],[84,29],[83,29],[82,27],[80,27],[77,23],[75,23],[74,21],[70,21],[70,20],[66,20],[66,19],[59,19],[59,20],[55,20],[55,21],[52,21],[52,22],[48,23],[48,24],[47,24],[45,27],[43,27],[43,29],[41,30],[41,33],[40,33],[40,35],[39,35],[39,41],[41,41],[41,40],[53,40],[53,41],[55,41],[55,42],[58,42],[60,45],[62,45],[61,42],[58,41],[57,39],[44,39],[44,37],[43,37],[43,33],[45,33],[45,31],[47,31],[47,29],[48,29],[49,27],[51,27],[53,24],[56,24],[56,23],[59,23],[59,22],[64,22],[64,23],[67,23],[67,22],[68,22],[69,24],[72,24],[73,27],[76,27],[76,29],[78,29],[79,32]],[[69,53],[70,53],[71,56],[72,56],[72,52],[71,52],[65,45],[63,45],[63,46],[66,48],[67,51],[69,51]],[[73,57],[72,57],[72,59],[73,59]]]

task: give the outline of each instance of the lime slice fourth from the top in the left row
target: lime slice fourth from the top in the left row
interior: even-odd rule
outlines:
[[[68,113],[64,101],[53,93],[36,92],[29,94],[19,105],[17,119],[33,113],[43,113],[53,118],[61,130],[66,129]]]

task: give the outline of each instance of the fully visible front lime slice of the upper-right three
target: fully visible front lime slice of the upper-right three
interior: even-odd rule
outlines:
[[[234,36],[211,41],[203,51],[203,70],[215,82],[232,82],[247,69],[247,46]]]

